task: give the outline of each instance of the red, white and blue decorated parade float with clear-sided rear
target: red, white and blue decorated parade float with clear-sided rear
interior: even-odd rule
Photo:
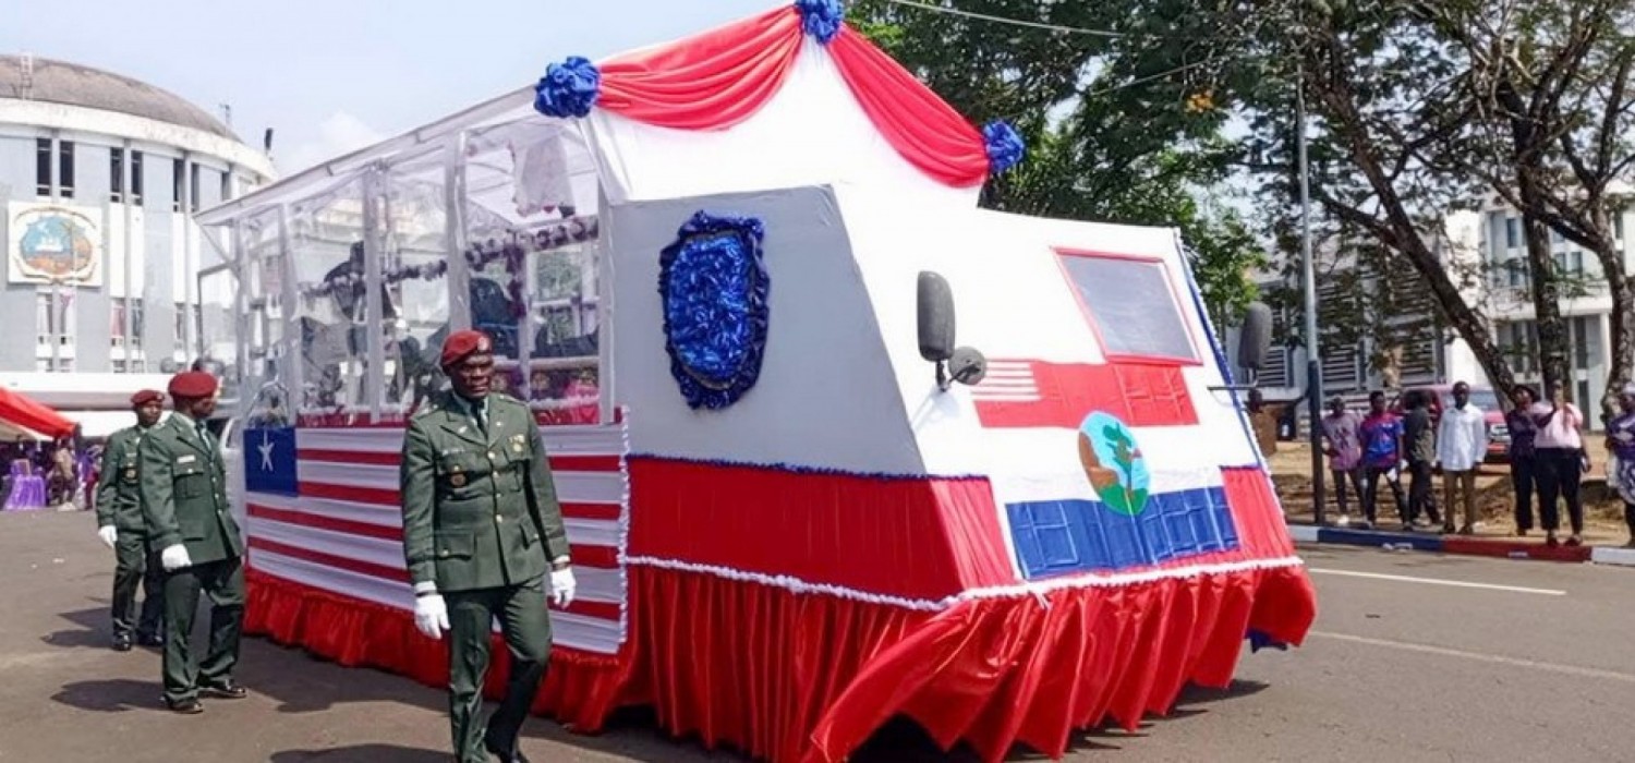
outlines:
[[[247,629],[446,680],[397,457],[477,327],[546,425],[580,595],[538,711],[576,730],[646,704],[840,760],[906,716],[1059,756],[1298,644],[1313,590],[1184,243],[979,211],[1022,154],[803,0],[206,211]]]

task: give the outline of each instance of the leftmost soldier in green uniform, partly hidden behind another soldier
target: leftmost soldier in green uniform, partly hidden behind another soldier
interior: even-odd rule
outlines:
[[[164,415],[165,395],[144,389],[131,395],[131,408],[136,410],[136,426],[108,438],[96,479],[96,534],[114,551],[113,649],[118,652],[131,650],[132,632],[144,647],[165,644],[159,631],[165,608],[165,578],[159,567],[159,549],[149,542],[136,479],[136,446]],[[137,583],[142,585],[141,619],[136,619]]]

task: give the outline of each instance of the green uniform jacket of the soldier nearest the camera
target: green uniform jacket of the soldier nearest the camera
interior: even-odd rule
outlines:
[[[440,591],[525,583],[566,562],[567,533],[540,425],[489,395],[487,436],[453,392],[409,420],[402,451],[404,559]]]

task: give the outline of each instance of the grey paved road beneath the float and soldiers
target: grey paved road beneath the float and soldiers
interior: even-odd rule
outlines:
[[[1635,760],[1635,570],[1306,549],[1321,616],[1305,649],[1246,655],[1231,691],[1190,691],[1074,761]],[[252,698],[159,709],[159,657],[106,649],[111,556],[87,515],[0,515],[0,761],[445,761],[443,698],[247,640]],[[1440,585],[1458,582],[1467,585]],[[643,712],[572,737],[535,721],[546,761],[737,763]],[[857,756],[945,756],[912,727]],[[1038,760],[1019,750],[1012,760]]]

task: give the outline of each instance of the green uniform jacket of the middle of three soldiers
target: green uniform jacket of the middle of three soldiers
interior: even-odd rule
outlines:
[[[201,443],[186,417],[172,415],[142,438],[137,462],[155,549],[185,544],[193,564],[244,556],[214,435],[206,431]]]

